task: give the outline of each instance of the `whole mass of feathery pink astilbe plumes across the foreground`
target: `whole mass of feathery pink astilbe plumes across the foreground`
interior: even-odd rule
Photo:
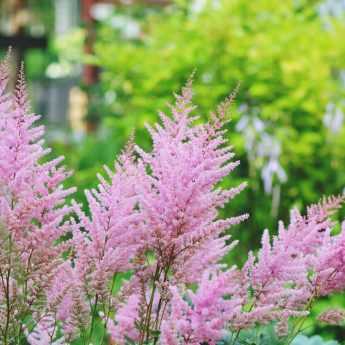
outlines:
[[[65,198],[61,159],[33,127],[23,76],[5,92],[0,70],[0,341],[31,345],[101,343],[208,344],[257,324],[276,323],[290,341],[313,301],[345,288],[345,226],[332,234],[342,197],[291,213],[276,236],[266,230],[258,255],[242,268],[223,256],[235,245],[227,230],[248,215],[222,219],[219,209],[245,188],[219,187],[239,164],[224,125],[231,95],[201,123],[191,115],[189,82],[171,116],[148,127],[153,147],[131,141],[86,191],[88,210]],[[67,234],[67,236],[64,236]],[[121,288],[119,288],[121,286]],[[115,293],[116,291],[116,293]],[[289,320],[299,322],[289,328]],[[343,312],[320,316],[340,322]]]

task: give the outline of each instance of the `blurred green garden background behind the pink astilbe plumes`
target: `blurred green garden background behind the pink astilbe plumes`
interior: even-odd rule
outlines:
[[[145,123],[194,70],[205,119],[240,83],[228,127],[241,165],[224,186],[249,187],[223,211],[251,215],[232,232],[241,242],[226,260],[236,263],[291,207],[344,191],[344,38],[344,0],[0,2],[1,51],[10,44],[14,64],[24,59],[33,108],[53,155],[74,170],[78,201],[133,131],[150,147]],[[316,310],[330,303],[345,298]],[[340,327],[310,329],[345,339]]]

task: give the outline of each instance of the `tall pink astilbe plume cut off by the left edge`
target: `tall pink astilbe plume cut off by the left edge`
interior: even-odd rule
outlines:
[[[0,67],[0,342],[23,336],[22,320],[47,312],[45,293],[61,263],[64,217],[62,157],[46,163],[39,116],[29,112],[23,69],[13,94],[8,67]]]

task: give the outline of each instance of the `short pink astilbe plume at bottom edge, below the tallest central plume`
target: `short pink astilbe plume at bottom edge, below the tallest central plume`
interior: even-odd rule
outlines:
[[[241,312],[238,271],[205,271],[196,293],[172,287],[172,299],[162,324],[161,344],[215,345]]]

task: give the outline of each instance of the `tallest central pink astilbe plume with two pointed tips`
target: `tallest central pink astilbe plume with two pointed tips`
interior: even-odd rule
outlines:
[[[152,152],[137,147],[140,163],[150,170],[146,185],[139,185],[140,202],[150,231],[147,246],[164,265],[170,262],[174,266],[171,261],[193,255],[202,243],[216,240],[247,217],[217,218],[218,208],[245,187],[242,184],[230,190],[216,188],[239,164],[231,161],[234,154],[231,147],[224,145],[225,131],[221,129],[226,122],[222,118],[225,108],[230,104],[219,109],[213,122],[193,125],[197,117],[190,116],[194,109],[191,98],[189,82],[182,95],[176,96],[172,117],[161,113],[162,126],[148,127]],[[213,263],[222,255],[220,251]]]

